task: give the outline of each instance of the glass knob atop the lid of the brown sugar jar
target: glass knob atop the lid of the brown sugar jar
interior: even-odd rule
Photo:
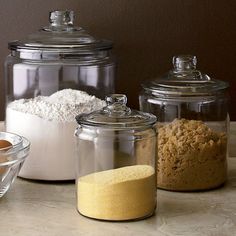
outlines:
[[[195,70],[197,57],[192,55],[175,56],[173,57],[173,65],[175,71]]]

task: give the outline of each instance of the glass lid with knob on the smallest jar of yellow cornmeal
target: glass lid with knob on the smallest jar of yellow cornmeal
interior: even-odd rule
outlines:
[[[107,105],[103,109],[78,115],[78,124],[123,130],[147,128],[156,123],[156,116],[127,107],[127,97],[124,94],[112,94],[105,100]]]

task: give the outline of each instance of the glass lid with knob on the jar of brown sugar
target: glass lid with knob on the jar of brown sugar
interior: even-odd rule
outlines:
[[[225,81],[215,80],[196,69],[197,58],[191,55],[173,57],[174,68],[163,77],[142,84],[155,95],[200,96],[228,88]]]

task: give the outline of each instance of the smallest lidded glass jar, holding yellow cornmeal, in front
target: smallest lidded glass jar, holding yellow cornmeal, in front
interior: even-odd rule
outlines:
[[[156,207],[156,117],[128,108],[122,94],[106,102],[76,117],[77,209],[102,220],[145,218]]]

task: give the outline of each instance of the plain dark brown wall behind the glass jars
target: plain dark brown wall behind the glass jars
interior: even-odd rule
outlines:
[[[117,92],[138,108],[143,79],[163,74],[176,54],[195,54],[198,67],[230,82],[231,119],[236,120],[236,1],[220,0],[1,0],[0,120],[7,42],[48,24],[48,12],[72,9],[76,24],[114,42]]]

